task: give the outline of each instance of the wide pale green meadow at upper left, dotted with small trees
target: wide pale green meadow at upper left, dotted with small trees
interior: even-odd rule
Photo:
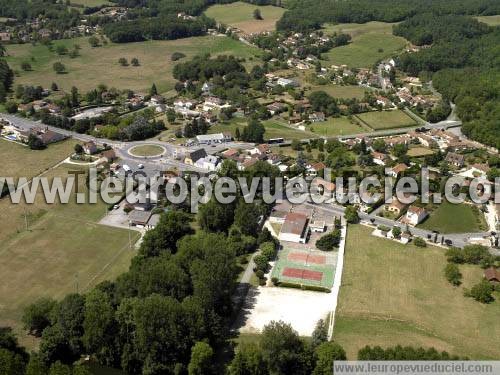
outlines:
[[[108,43],[97,48],[90,47],[87,39],[76,38],[54,42],[54,46],[62,44],[68,49],[78,44],[81,47],[80,56],[74,59],[67,55],[59,56],[40,44],[36,46],[8,45],[7,61],[19,74],[14,84],[50,87],[52,82],[56,82],[64,90],[70,90],[72,86],[76,86],[80,91],[88,91],[103,83],[109,87],[146,93],[155,83],[160,92],[166,92],[175,84],[172,70],[178,62],[170,59],[174,52],[182,52],[186,55],[186,58],[179,62],[204,53],[231,54],[246,59],[259,54],[255,47],[247,46],[228,37],[217,36],[140,43]],[[140,66],[123,67],[118,63],[120,57],[126,58],[129,62],[137,57]],[[25,61],[31,64],[32,71],[22,71],[21,63]],[[54,72],[52,65],[56,61],[61,61],[66,66],[66,74]],[[251,65],[250,61],[248,65]]]

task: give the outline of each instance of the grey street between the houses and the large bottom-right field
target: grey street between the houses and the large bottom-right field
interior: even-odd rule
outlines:
[[[311,206],[311,207],[317,207],[320,206],[323,210],[331,212],[335,215],[343,215],[345,211],[345,207],[336,205],[336,204],[331,204],[331,203],[314,203],[312,201],[307,202],[306,205]],[[373,214],[366,214],[363,212],[359,213],[359,217],[361,220],[367,221],[367,222],[372,222],[374,225],[385,225],[388,227],[393,227],[393,226],[398,226],[402,229],[406,229],[406,225],[401,224],[397,221],[376,216]],[[428,235],[431,236],[431,238],[434,238],[435,233],[430,230],[426,229],[421,229],[421,228],[415,228],[415,227],[409,227],[410,233],[414,236],[422,237],[424,239],[428,238]],[[441,235],[438,234],[437,238],[437,243],[441,243],[441,238],[444,237],[445,239],[449,239],[453,241],[453,246],[457,247],[464,247],[465,245],[469,244],[469,240],[471,238],[478,238],[478,237],[486,237],[489,236],[490,232],[479,232],[479,233],[451,233],[451,234],[446,234],[446,235]],[[496,253],[496,251],[495,251]]]

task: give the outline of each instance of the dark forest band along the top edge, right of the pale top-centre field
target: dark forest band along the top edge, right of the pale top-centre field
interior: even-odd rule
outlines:
[[[497,0],[295,0],[289,11],[277,22],[279,30],[318,29],[326,22],[365,23],[399,22],[415,14],[483,14],[500,13]]]

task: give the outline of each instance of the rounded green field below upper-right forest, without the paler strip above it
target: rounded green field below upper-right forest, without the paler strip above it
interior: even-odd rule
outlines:
[[[350,44],[333,48],[324,56],[335,65],[369,68],[380,60],[398,54],[405,45],[404,38],[387,33],[369,32],[354,36]]]

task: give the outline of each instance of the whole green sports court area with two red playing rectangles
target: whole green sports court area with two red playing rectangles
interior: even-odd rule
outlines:
[[[331,288],[336,263],[336,252],[284,247],[278,252],[271,276],[280,282]]]

